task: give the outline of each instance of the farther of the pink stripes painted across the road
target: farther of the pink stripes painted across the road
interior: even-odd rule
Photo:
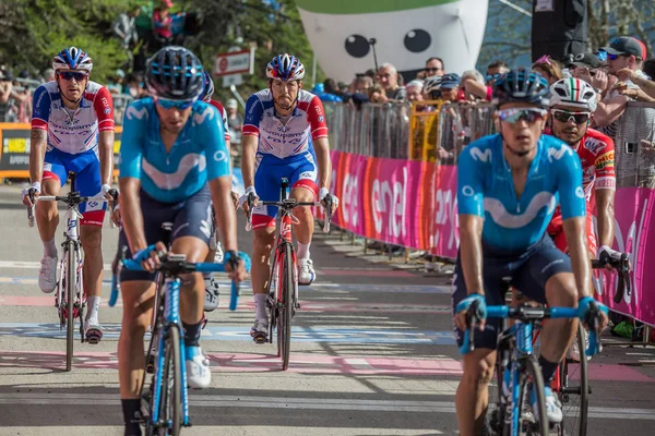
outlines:
[[[223,306],[219,310],[227,310],[227,296],[219,299]],[[0,295],[0,306],[53,306],[55,298],[49,295]],[[103,306],[108,306],[103,301]],[[122,303],[117,303],[121,306]],[[332,302],[311,302],[300,300],[300,312],[383,312],[383,313],[426,313],[426,314],[448,314],[451,313],[451,306],[432,304],[376,304],[376,303],[332,303]],[[252,295],[242,295],[239,300],[239,307],[254,311]]]

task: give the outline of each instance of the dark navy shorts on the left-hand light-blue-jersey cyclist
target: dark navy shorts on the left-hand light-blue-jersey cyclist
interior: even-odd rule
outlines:
[[[213,232],[212,222],[212,196],[205,184],[195,194],[180,203],[162,203],[143,190],[140,193],[141,210],[143,214],[143,228],[145,242],[148,245],[164,242],[167,246],[176,239],[182,237],[194,237],[202,240],[207,246]],[[172,223],[172,231],[168,232],[162,228],[164,222]],[[128,237],[123,229],[118,238],[118,247],[127,246],[126,258],[132,258]],[[120,279],[155,281],[155,275],[146,271],[130,271],[122,269]]]

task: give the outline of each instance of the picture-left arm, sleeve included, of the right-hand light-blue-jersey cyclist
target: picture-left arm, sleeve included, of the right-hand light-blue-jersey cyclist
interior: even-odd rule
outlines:
[[[479,148],[469,145],[467,150]],[[483,279],[484,173],[486,162],[463,152],[457,162],[457,205],[460,220],[460,258],[466,291],[485,294]]]

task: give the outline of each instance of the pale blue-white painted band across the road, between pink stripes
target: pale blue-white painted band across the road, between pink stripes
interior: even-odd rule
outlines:
[[[75,329],[76,331],[78,329]],[[120,324],[104,324],[103,339],[116,339],[120,335]],[[59,324],[0,323],[0,336],[64,339],[66,330]],[[206,327],[202,330],[203,340],[252,340],[246,327]],[[402,343],[453,346],[453,332],[401,329],[354,329],[330,326],[293,327],[291,338],[301,342],[333,343]]]

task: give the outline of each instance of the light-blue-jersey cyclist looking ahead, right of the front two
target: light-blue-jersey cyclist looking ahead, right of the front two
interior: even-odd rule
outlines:
[[[500,133],[472,143],[460,156],[461,240],[452,295],[460,346],[474,301],[483,314],[487,304],[504,304],[503,278],[532,300],[577,306],[581,318],[594,301],[580,159],[563,142],[543,135],[547,93],[548,83],[537,73],[522,69],[501,76],[493,89]],[[558,201],[571,258],[546,233]],[[561,422],[562,411],[549,382],[575,336],[576,323],[549,319],[541,332],[539,364],[551,423]],[[483,431],[499,325],[499,319],[488,320],[475,336],[475,350],[463,359],[455,402],[463,436]]]

